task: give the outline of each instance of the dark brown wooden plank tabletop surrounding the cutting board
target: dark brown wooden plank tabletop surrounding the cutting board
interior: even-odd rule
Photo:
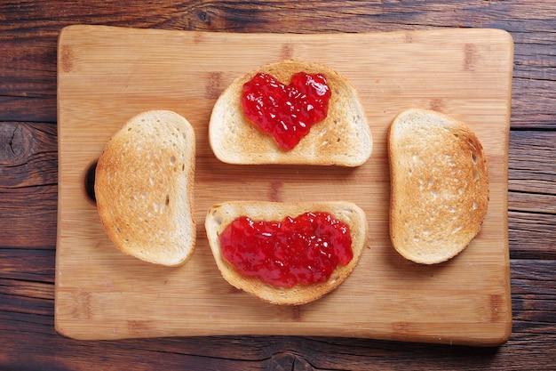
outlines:
[[[501,28],[515,43],[512,336],[497,348],[222,336],[83,342],[54,330],[56,43],[70,24],[215,32]],[[556,359],[556,1],[0,2],[0,369],[522,370]],[[187,315],[187,313],[184,313]]]

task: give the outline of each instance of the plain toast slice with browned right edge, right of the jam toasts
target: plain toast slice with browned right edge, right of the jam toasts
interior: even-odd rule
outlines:
[[[464,123],[409,109],[388,133],[390,238],[405,258],[444,262],[481,230],[488,172],[481,142]]]

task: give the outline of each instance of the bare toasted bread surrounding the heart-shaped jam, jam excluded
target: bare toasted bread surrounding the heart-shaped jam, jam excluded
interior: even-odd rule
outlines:
[[[289,84],[293,74],[321,73],[330,87],[327,117],[311,127],[294,149],[284,151],[274,138],[251,123],[242,110],[242,88],[258,72]],[[281,60],[239,77],[220,95],[209,125],[210,147],[229,164],[363,164],[370,156],[372,138],[365,112],[353,85],[329,67],[300,60]]]

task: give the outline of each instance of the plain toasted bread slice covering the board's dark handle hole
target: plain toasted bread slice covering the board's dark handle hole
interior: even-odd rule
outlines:
[[[183,264],[195,250],[195,132],[184,117],[153,110],[107,142],[95,174],[100,221],[115,246],[145,262]]]

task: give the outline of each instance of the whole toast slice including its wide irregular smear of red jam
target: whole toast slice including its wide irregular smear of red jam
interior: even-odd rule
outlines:
[[[264,302],[313,302],[346,280],[367,246],[367,220],[348,202],[232,201],[205,230],[226,281]]]

